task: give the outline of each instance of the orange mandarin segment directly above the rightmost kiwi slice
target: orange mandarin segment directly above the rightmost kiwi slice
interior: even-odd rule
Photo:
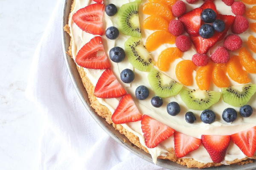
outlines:
[[[239,57],[233,56],[227,62],[227,74],[231,79],[240,84],[245,84],[250,82],[250,78],[248,77],[247,71],[242,69],[242,65],[240,64]]]

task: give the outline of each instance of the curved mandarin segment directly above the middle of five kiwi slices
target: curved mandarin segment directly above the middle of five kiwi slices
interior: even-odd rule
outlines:
[[[183,52],[177,47],[166,48],[157,59],[157,67],[161,71],[168,71],[170,64],[177,58],[182,57]]]

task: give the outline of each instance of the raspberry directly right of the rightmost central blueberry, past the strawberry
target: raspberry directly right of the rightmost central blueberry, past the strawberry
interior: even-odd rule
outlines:
[[[246,31],[248,28],[249,28],[248,20],[241,15],[236,16],[232,25],[232,32],[234,34],[241,34],[244,31]]]

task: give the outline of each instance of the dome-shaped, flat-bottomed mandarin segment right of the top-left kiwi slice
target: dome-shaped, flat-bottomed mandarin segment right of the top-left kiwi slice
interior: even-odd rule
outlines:
[[[163,17],[151,15],[143,21],[143,28],[150,30],[166,30],[168,31],[169,23]]]

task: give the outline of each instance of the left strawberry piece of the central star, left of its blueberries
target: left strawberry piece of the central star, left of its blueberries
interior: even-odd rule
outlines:
[[[183,23],[186,31],[191,36],[198,36],[199,28],[201,26],[201,8],[195,8],[192,11],[187,12],[186,14],[179,17],[179,20]]]

